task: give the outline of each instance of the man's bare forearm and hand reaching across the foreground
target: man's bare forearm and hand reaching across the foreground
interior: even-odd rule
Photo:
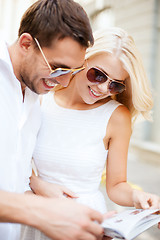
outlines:
[[[0,191],[0,222],[38,228],[56,240],[95,240],[103,229],[102,215],[69,199]],[[96,222],[95,222],[96,221]]]

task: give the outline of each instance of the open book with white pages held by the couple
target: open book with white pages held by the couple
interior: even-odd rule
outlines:
[[[102,226],[106,236],[131,240],[158,222],[160,209],[132,209],[106,219]]]

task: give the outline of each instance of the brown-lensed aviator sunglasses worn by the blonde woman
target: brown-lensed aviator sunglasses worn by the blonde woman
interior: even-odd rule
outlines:
[[[109,81],[108,90],[111,94],[122,93],[126,89],[124,81],[113,80],[106,73],[96,67],[92,67],[87,71],[87,79],[95,84],[101,84]]]

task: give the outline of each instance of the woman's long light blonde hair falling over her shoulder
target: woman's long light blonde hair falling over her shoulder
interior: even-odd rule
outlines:
[[[129,74],[126,91],[113,98],[129,109],[133,122],[140,114],[146,120],[151,120],[150,110],[153,107],[151,87],[133,38],[123,29],[112,27],[95,32],[94,39],[95,43],[88,48],[85,58],[88,59],[101,52],[115,54]]]

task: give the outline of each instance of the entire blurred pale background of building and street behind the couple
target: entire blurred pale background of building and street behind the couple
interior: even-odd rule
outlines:
[[[124,28],[142,54],[153,89],[153,122],[139,121],[132,134],[128,157],[128,181],[160,195],[160,0],[76,0],[86,10],[93,30],[108,26]],[[20,19],[35,0],[0,0],[0,37],[17,39]],[[105,187],[101,186],[105,192]],[[105,194],[105,193],[104,193]],[[106,196],[106,194],[105,194]],[[107,199],[109,210],[121,208]],[[158,240],[157,227],[137,240]]]

